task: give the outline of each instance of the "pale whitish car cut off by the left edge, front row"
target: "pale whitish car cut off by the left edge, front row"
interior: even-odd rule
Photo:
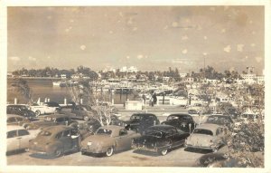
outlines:
[[[6,131],[6,153],[14,150],[28,149],[28,142],[34,139],[38,130],[25,130],[20,126],[8,125]]]

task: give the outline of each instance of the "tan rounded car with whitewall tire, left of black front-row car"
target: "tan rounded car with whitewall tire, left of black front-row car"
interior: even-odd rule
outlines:
[[[103,126],[96,133],[82,140],[81,153],[105,153],[112,156],[115,151],[131,149],[132,140],[139,134],[120,126]]]

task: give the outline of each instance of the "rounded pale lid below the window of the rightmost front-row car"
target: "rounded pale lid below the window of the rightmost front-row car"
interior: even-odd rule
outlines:
[[[192,133],[192,135],[190,135],[187,138],[187,144],[191,144],[191,145],[209,145],[210,144],[210,140],[213,140],[214,137],[210,136],[210,135],[204,135],[204,134],[195,134]]]

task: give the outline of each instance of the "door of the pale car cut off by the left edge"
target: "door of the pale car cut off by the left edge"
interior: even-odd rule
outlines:
[[[20,149],[20,140],[17,139],[17,130],[6,132],[6,151]]]

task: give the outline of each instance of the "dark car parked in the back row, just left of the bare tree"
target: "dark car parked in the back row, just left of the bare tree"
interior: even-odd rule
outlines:
[[[74,116],[71,116],[72,119],[79,119],[79,120],[90,120],[93,119],[95,115],[97,115],[97,111],[91,109],[88,105],[73,105],[71,108],[71,113]]]

